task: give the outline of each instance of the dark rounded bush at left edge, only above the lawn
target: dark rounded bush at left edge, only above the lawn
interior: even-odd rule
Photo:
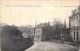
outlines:
[[[1,37],[12,38],[15,36],[22,37],[22,32],[18,30],[16,26],[6,25],[1,29]]]

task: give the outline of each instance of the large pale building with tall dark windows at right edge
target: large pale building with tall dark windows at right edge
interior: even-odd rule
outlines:
[[[80,42],[80,6],[72,11],[69,17],[69,28],[73,41]]]

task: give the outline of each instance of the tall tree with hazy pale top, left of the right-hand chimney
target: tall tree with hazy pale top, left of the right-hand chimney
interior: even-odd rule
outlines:
[[[51,38],[60,40],[60,34],[63,33],[64,24],[60,20],[55,19],[52,28]]]

